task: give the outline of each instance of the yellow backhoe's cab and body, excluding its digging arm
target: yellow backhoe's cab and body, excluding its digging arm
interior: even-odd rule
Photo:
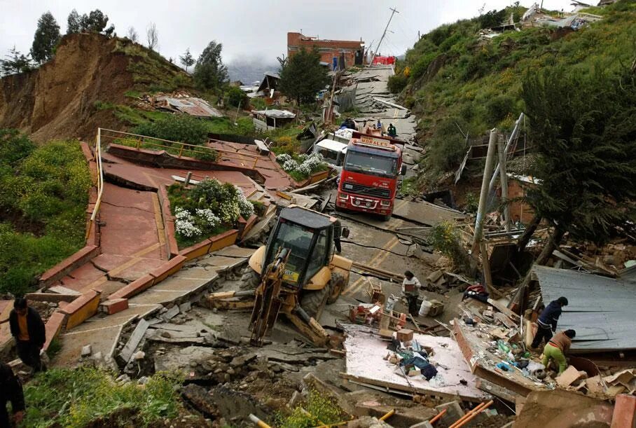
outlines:
[[[342,231],[341,231],[342,230]],[[338,236],[336,236],[338,235]],[[268,244],[256,250],[249,266],[263,276],[281,249],[289,256],[282,272],[286,288],[298,293],[300,307],[307,315],[319,319],[326,303],[338,300],[349,283],[351,261],[334,254],[334,239],[348,237],[337,219],[297,206],[282,209]]]

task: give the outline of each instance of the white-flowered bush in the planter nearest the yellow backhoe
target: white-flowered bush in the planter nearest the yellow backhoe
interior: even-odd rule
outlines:
[[[168,194],[177,237],[184,238],[188,244],[192,238],[233,228],[240,216],[249,219],[254,214],[254,205],[241,188],[231,183],[221,184],[216,179],[203,179],[192,188],[173,184]]]

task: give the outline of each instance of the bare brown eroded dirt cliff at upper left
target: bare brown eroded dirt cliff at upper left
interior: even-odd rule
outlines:
[[[0,127],[20,128],[36,141],[91,139],[97,127],[122,129],[111,111],[95,108],[96,101],[123,104],[125,92],[139,87],[137,70],[150,56],[179,74],[176,66],[146,51],[99,34],[65,36],[50,62],[0,79]]]

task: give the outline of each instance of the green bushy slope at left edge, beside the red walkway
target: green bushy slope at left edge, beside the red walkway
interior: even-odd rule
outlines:
[[[0,130],[0,155],[0,291],[24,294],[83,247],[90,174],[78,141]]]

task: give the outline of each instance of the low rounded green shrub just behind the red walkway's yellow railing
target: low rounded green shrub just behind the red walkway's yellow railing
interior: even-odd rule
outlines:
[[[188,144],[204,144],[207,141],[205,123],[187,114],[173,114],[156,122],[142,123],[134,128],[135,134],[179,141]]]

